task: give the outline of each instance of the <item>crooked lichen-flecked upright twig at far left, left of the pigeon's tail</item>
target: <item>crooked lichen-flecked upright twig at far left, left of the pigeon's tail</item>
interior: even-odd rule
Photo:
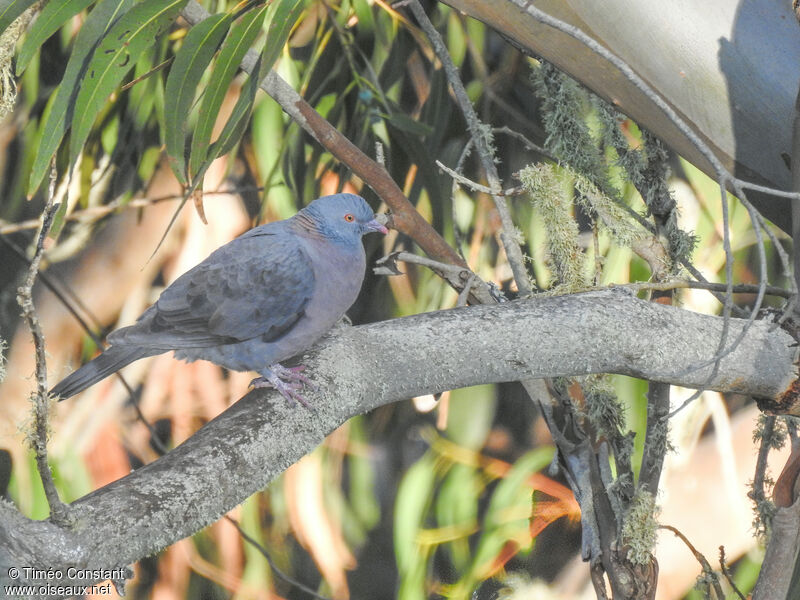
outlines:
[[[33,284],[39,272],[39,264],[44,254],[44,241],[47,233],[53,225],[60,204],[54,203],[56,185],[55,163],[51,166],[50,187],[47,202],[42,212],[42,227],[36,237],[33,258],[31,259],[28,274],[24,284],[17,289],[17,302],[22,308],[22,318],[31,330],[33,346],[36,354],[36,391],[33,394],[33,425],[32,431],[28,435],[31,449],[36,458],[36,468],[42,479],[45,497],[50,506],[50,519],[57,525],[67,525],[68,508],[61,502],[53,481],[53,474],[50,471],[50,464],[47,460],[47,437],[48,437],[48,415],[50,412],[50,398],[47,393],[47,361],[45,357],[44,334],[33,306]]]

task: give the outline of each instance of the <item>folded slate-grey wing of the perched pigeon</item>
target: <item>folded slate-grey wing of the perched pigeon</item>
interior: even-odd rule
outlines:
[[[112,344],[178,349],[281,337],[314,291],[311,260],[298,240],[269,226],[236,238],[181,275]]]

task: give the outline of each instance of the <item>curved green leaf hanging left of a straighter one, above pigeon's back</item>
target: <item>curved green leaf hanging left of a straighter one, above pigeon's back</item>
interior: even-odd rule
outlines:
[[[186,185],[186,123],[197,86],[231,26],[232,15],[211,15],[189,31],[167,77],[164,142],[170,166]]]

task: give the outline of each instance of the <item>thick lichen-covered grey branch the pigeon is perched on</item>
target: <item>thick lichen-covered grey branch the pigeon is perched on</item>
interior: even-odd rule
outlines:
[[[316,410],[289,407],[271,391],[251,392],[166,456],[73,503],[71,530],[28,521],[0,503],[0,548],[7,552],[0,562],[127,565],[216,521],[346,419],[424,393],[613,372],[778,398],[796,376],[797,350],[767,323],[750,329],[711,381],[710,366],[691,370],[714,355],[722,327],[719,317],[608,291],[340,329],[305,360],[319,385],[309,395]],[[731,320],[731,334],[742,327]]]

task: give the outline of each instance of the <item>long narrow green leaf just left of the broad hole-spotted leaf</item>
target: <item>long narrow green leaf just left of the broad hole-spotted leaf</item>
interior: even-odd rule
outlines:
[[[57,2],[52,4],[57,4]],[[86,72],[89,55],[111,24],[132,5],[133,0],[101,0],[86,17],[86,21],[78,31],[64,77],[61,79],[61,84],[52,101],[48,103],[49,112],[46,111],[42,119],[41,142],[31,168],[28,195],[33,195],[41,185],[50,166],[50,159],[58,150],[67,130],[67,124],[72,120],[75,97],[78,95],[80,87],[78,80]]]

